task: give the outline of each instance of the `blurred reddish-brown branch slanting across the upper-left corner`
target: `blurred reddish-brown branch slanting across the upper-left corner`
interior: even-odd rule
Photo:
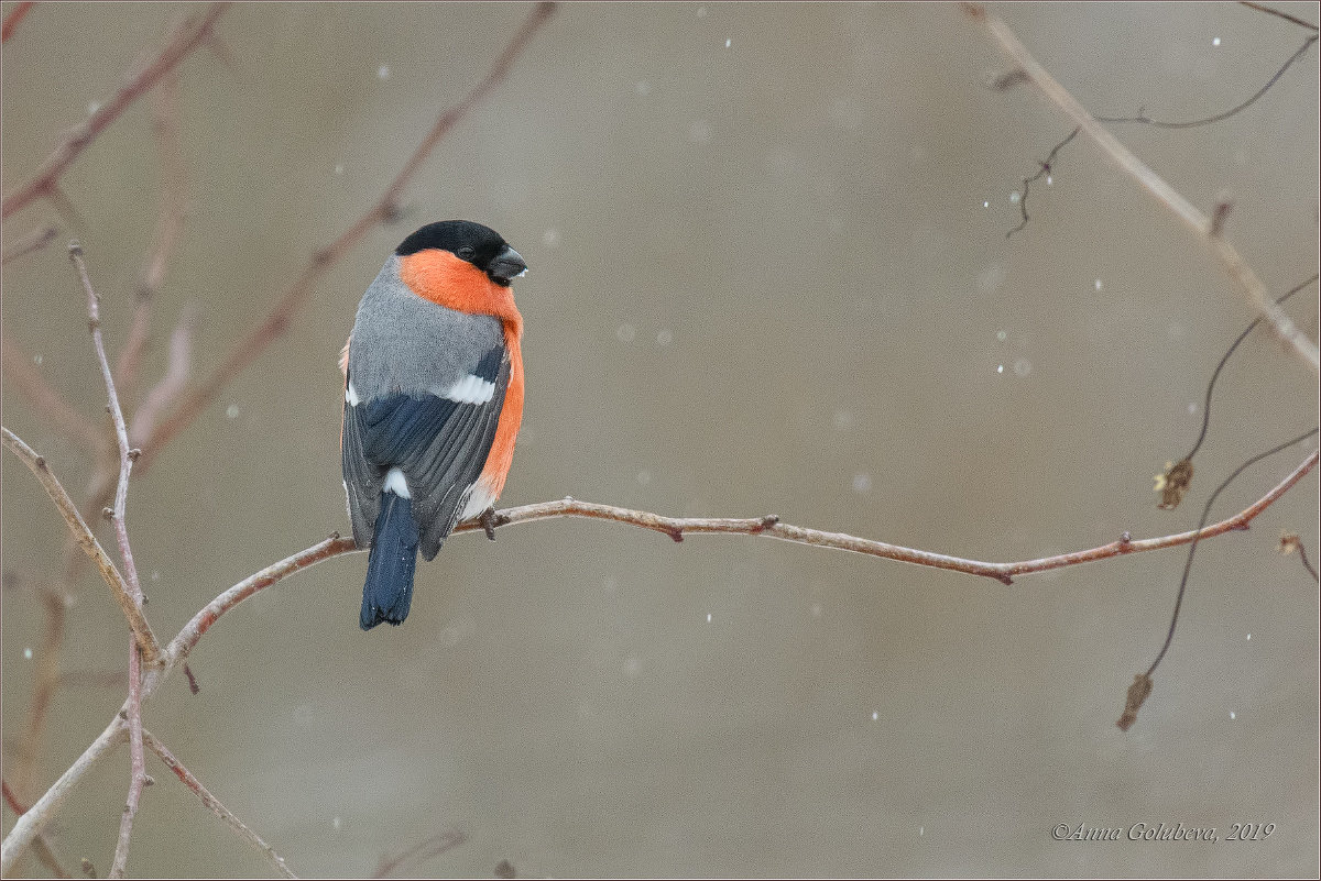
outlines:
[[[8,218],[29,202],[55,193],[59,175],[78,158],[100,132],[115,121],[124,109],[149,91],[161,76],[173,70],[190,51],[206,41],[215,21],[225,12],[227,3],[215,3],[201,18],[189,18],[174,32],[165,49],[123,87],[100,106],[86,121],[71,128],[55,146],[54,152],[41,164],[36,175],[0,202],[0,216]]]

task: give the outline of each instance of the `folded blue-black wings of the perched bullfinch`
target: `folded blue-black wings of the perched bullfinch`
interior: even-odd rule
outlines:
[[[370,547],[380,487],[399,468],[412,496],[419,550],[431,559],[449,535],[486,464],[509,388],[503,346],[489,351],[473,375],[495,384],[485,404],[439,394],[392,394],[343,406],[343,483],[358,547]],[[351,379],[351,377],[349,377]]]

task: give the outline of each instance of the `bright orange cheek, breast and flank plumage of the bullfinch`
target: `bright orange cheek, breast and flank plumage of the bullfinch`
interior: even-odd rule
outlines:
[[[448,251],[428,248],[400,260],[399,277],[419,297],[437,306],[470,315],[494,315],[505,324],[509,349],[509,388],[495,426],[495,439],[478,479],[491,496],[499,496],[514,462],[514,442],[523,422],[523,317],[514,306],[514,291]]]

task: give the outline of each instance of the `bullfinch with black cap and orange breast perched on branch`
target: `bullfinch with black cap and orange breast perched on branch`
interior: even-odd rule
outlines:
[[[359,625],[403,624],[417,551],[505,487],[523,418],[527,270],[498,232],[443,220],[395,248],[358,305],[343,353],[343,487],[353,539],[370,547]]]

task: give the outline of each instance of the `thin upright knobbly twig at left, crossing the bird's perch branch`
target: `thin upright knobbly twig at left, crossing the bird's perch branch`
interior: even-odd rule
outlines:
[[[69,245],[69,260],[73,261],[78,272],[78,281],[82,282],[83,293],[87,294],[87,320],[91,327],[92,346],[96,349],[96,363],[100,365],[100,377],[106,382],[106,394],[110,404],[111,419],[115,425],[115,439],[119,442],[119,483],[115,487],[115,506],[111,509],[111,522],[115,526],[115,538],[119,542],[119,555],[124,563],[124,580],[132,591],[133,603],[141,612],[143,587],[137,580],[137,564],[133,563],[133,549],[128,541],[128,477],[133,470],[133,459],[137,451],[128,446],[128,425],[124,422],[124,409],[119,405],[119,394],[115,392],[115,375],[110,369],[110,360],[106,357],[106,343],[100,332],[100,297],[92,288],[91,277],[87,274],[87,264],[83,260],[82,245],[71,243]],[[128,798],[124,803],[124,812],[120,815],[119,841],[115,845],[115,860],[110,866],[110,877],[122,878],[128,865],[128,845],[133,835],[133,818],[137,816],[137,806],[143,798],[143,787],[147,785],[147,758],[143,752],[143,657],[137,648],[137,641],[128,641],[128,752],[129,752],[129,779]]]

